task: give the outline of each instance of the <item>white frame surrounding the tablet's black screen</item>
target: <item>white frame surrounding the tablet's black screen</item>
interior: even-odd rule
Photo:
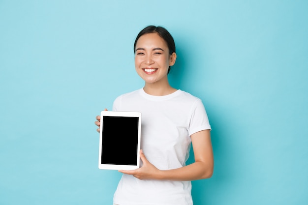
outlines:
[[[137,164],[136,165],[119,165],[119,164],[102,164],[102,130],[103,130],[103,117],[138,117],[138,144],[137,144]],[[140,139],[141,139],[141,113],[140,112],[122,112],[122,111],[102,111],[100,113],[100,126],[99,126],[99,156],[98,156],[98,168],[103,170],[134,170],[140,167]],[[122,154],[117,151],[116,154]]]

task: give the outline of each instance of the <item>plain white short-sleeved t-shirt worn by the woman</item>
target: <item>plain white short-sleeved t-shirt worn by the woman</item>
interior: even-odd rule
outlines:
[[[160,170],[185,166],[190,135],[211,129],[201,100],[182,90],[153,96],[141,88],[119,96],[113,110],[141,112],[141,148],[149,162]],[[114,204],[192,205],[191,182],[140,180],[123,174]]]

